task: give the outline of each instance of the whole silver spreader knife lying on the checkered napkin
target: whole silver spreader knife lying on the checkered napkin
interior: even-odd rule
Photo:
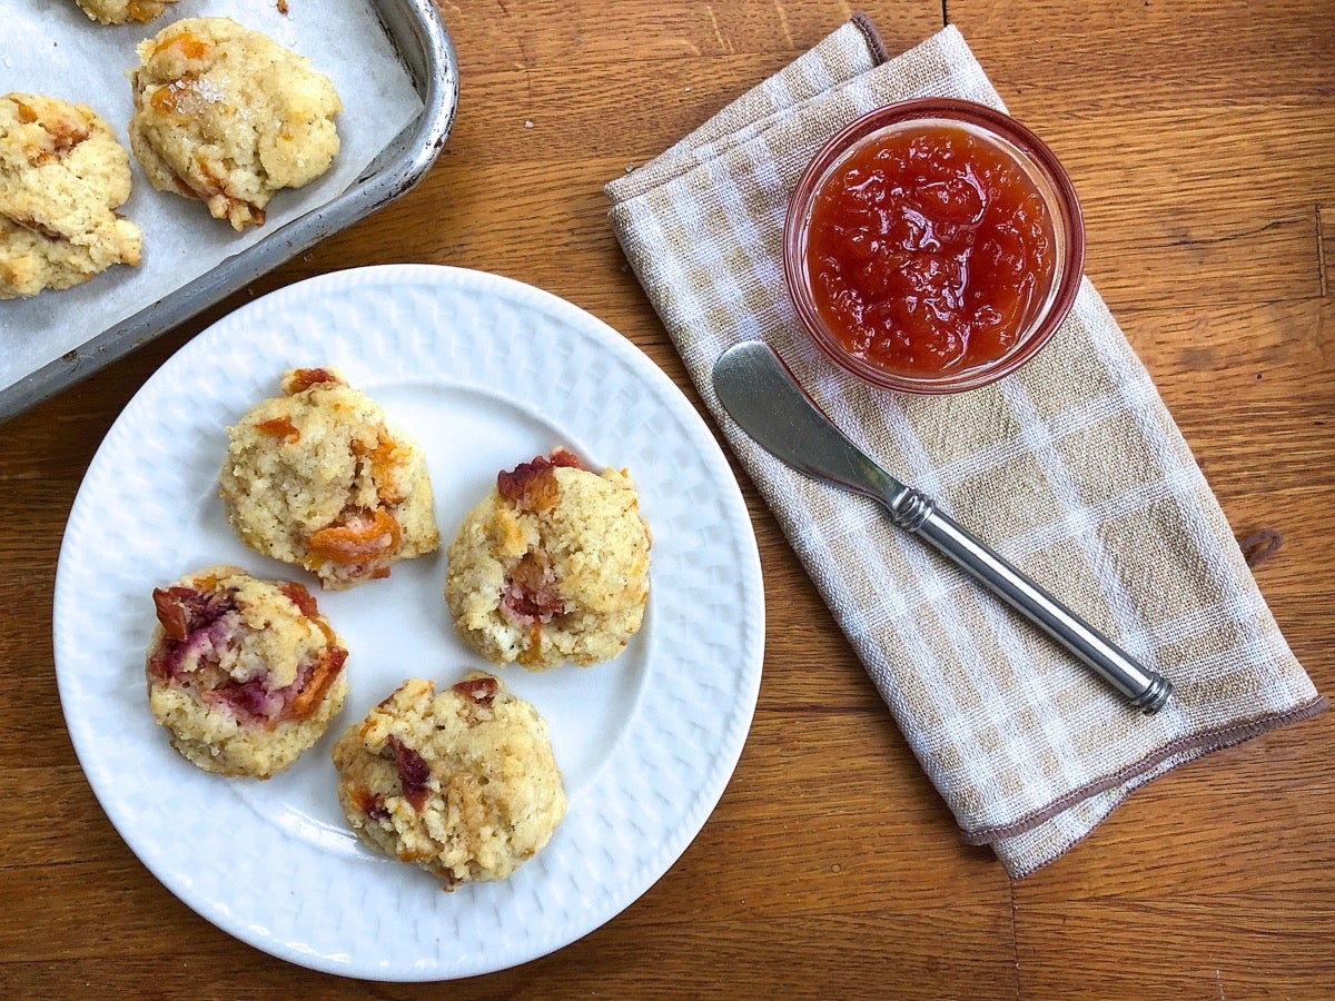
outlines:
[[[821,412],[774,351],[758,340],[714,363],[720,402],[752,438],[793,468],[878,500],[900,529],[924,539],[1047,633],[1144,713],[1157,713],[1172,683],[1137,663],[1011,563],[936,510],[853,444]]]

